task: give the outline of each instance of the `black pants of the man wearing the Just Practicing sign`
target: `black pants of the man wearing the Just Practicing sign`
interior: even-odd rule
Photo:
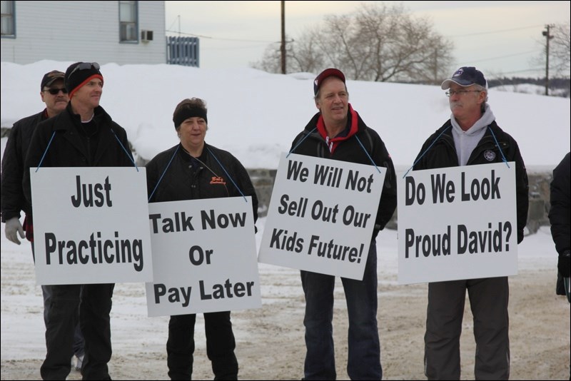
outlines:
[[[109,380],[111,360],[111,297],[115,285],[49,285],[51,300],[47,313],[46,359],[41,365],[43,380],[65,380],[71,370],[74,337],[78,322],[85,339],[81,374],[84,380]]]

